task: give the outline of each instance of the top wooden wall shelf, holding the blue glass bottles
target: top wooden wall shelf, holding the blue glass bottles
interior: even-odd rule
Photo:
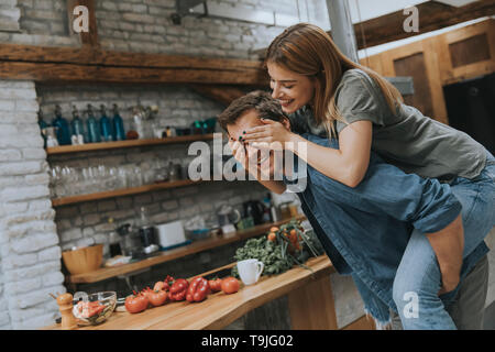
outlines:
[[[114,150],[114,148],[133,147],[133,146],[177,144],[177,143],[188,143],[188,142],[196,142],[196,141],[211,141],[211,140],[213,140],[213,133],[170,136],[170,138],[165,138],[165,139],[87,143],[87,144],[82,144],[82,145],[61,145],[61,146],[47,147],[46,154],[50,156],[50,155],[56,155],[56,154],[80,153],[80,152],[90,152],[90,151],[105,151],[105,150]]]

